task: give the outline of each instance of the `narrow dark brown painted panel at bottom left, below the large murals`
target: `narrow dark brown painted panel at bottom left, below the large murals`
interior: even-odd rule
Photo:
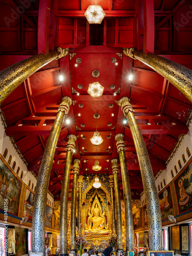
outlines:
[[[16,256],[25,254],[25,228],[15,227]]]

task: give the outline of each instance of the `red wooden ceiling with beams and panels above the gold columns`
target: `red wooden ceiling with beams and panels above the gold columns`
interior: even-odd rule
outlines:
[[[92,165],[97,154],[102,166],[100,173],[110,174],[110,160],[118,158],[114,135],[124,133],[131,188],[140,193],[142,181],[133,138],[129,124],[123,124],[124,115],[114,100],[123,96],[131,98],[154,174],[166,167],[165,161],[178,136],[187,133],[185,121],[191,104],[171,83],[149,67],[125,55],[121,59],[116,53],[122,53],[122,47],[135,47],[158,53],[191,69],[189,1],[154,0],[154,5],[152,0],[40,0],[27,3],[21,7],[20,1],[0,0],[0,34],[3,38],[0,41],[0,69],[38,52],[47,53],[56,46],[69,48],[70,53],[76,55],[72,59],[68,55],[52,61],[20,84],[3,102],[7,135],[14,136],[29,170],[38,174],[61,97],[70,96],[77,103],[70,106],[67,116],[70,124],[64,121],[62,126],[50,191],[57,199],[60,197],[59,184],[68,134],[78,136],[74,158],[81,159],[81,172],[96,173]],[[101,25],[86,22],[84,12],[91,4],[100,4],[106,12]],[[117,59],[117,66],[111,62],[112,57]],[[77,58],[82,62],[75,67]],[[89,83],[95,81],[91,75],[93,70],[100,72],[97,81],[104,87],[103,96],[99,98],[91,98],[87,93]],[[129,81],[131,73],[133,79]],[[60,74],[64,76],[62,82],[59,81]],[[83,89],[78,89],[80,83]],[[111,84],[115,84],[115,89],[110,89]],[[72,88],[80,95],[73,93]],[[121,89],[120,93],[114,96],[117,89]],[[83,108],[79,103],[83,103]],[[109,108],[109,103],[114,104],[113,108]],[[97,125],[104,139],[97,148],[90,143],[96,129],[94,113],[101,115]],[[81,126],[82,123],[85,127]],[[81,135],[86,139],[83,140]],[[110,139],[107,139],[108,135]],[[70,179],[73,179],[72,174]],[[119,179],[121,181],[121,175]]]

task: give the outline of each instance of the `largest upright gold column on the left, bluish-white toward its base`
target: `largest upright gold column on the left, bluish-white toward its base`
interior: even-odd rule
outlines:
[[[39,175],[37,178],[32,219],[32,251],[42,252],[43,255],[45,254],[44,232],[47,190],[49,186],[57,141],[59,139],[63,120],[68,114],[69,106],[71,103],[71,98],[62,98],[62,102],[59,105],[58,113],[52,126],[49,139],[46,143],[42,162],[39,168]]]

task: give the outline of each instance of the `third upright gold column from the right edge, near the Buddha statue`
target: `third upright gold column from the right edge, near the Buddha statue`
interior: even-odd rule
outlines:
[[[120,188],[118,180],[118,164],[117,159],[112,159],[112,172],[114,176],[114,187],[115,187],[115,209],[116,209],[116,250],[123,250],[123,239],[122,239],[122,207],[121,207],[121,197]]]

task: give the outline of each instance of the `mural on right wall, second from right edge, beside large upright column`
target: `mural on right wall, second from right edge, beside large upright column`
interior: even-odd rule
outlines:
[[[169,215],[174,215],[170,186],[159,194],[159,204],[161,210],[161,220],[168,218]]]

